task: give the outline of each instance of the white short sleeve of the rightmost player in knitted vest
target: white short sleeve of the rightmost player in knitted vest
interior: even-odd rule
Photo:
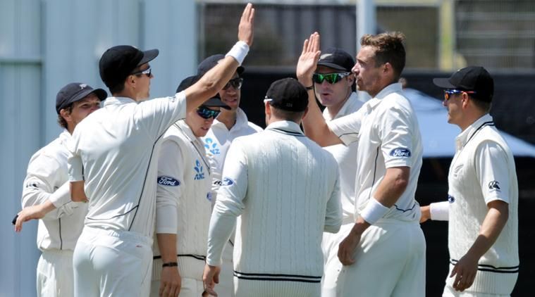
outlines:
[[[476,149],[475,167],[485,203],[501,200],[509,203],[509,160],[503,148],[493,141],[484,141]]]

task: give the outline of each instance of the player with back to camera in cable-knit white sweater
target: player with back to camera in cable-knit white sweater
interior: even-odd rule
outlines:
[[[338,232],[342,217],[336,160],[299,127],[307,101],[297,80],[273,82],[264,132],[230,144],[209,229],[209,293],[238,217],[235,296],[320,296],[321,237]]]

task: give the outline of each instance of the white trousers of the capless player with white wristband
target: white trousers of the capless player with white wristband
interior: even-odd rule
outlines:
[[[338,296],[425,296],[426,244],[418,222],[379,220],[353,257],[338,277]]]

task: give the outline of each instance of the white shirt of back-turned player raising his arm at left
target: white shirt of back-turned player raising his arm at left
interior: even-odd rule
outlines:
[[[69,180],[85,180],[85,226],[154,233],[156,141],[185,118],[185,92],[136,103],[110,97],[74,130]]]

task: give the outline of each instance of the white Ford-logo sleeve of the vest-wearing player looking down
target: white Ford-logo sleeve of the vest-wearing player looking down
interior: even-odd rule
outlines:
[[[156,179],[156,233],[176,234],[178,230],[178,201],[182,196],[184,162],[180,146],[164,140],[158,158]]]

